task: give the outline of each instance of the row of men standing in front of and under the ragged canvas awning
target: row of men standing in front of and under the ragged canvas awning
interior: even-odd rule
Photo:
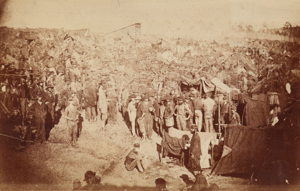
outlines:
[[[192,124],[197,125],[197,131],[214,132],[217,103],[212,95],[208,92],[202,98],[195,88],[190,88],[190,92],[185,95],[175,94],[175,89],[171,90],[170,95],[131,94],[127,111],[133,136],[137,133],[142,136],[143,141],[146,137],[152,140],[153,129],[162,136],[163,131],[170,127],[189,131]],[[236,106],[231,106],[226,96],[220,105],[220,121],[222,124],[235,125],[240,125],[241,122]]]

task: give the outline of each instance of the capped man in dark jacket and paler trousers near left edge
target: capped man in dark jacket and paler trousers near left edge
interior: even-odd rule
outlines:
[[[24,125],[24,120],[28,113],[28,100],[30,99],[29,89],[26,85],[26,80],[21,78],[20,80],[21,85],[19,86],[20,90],[20,109],[21,109],[21,116],[22,116],[22,125]]]

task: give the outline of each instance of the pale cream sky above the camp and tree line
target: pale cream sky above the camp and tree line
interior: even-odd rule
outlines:
[[[215,33],[243,22],[254,30],[300,25],[299,0],[0,0],[1,26],[90,28],[108,33],[142,23],[144,34]]]

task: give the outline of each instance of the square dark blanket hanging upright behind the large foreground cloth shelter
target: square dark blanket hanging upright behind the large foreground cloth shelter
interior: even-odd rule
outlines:
[[[270,106],[267,96],[254,100],[249,97],[244,98],[246,103],[245,119],[249,127],[258,127],[268,124]]]

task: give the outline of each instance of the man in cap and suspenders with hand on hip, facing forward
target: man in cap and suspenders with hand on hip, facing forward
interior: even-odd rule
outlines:
[[[175,106],[175,112],[176,112],[176,122],[177,122],[177,129],[186,131],[186,121],[190,118],[190,115],[188,118],[186,118],[186,114],[189,113],[189,108],[186,104],[183,104],[184,97],[179,96],[178,97],[178,105]]]

